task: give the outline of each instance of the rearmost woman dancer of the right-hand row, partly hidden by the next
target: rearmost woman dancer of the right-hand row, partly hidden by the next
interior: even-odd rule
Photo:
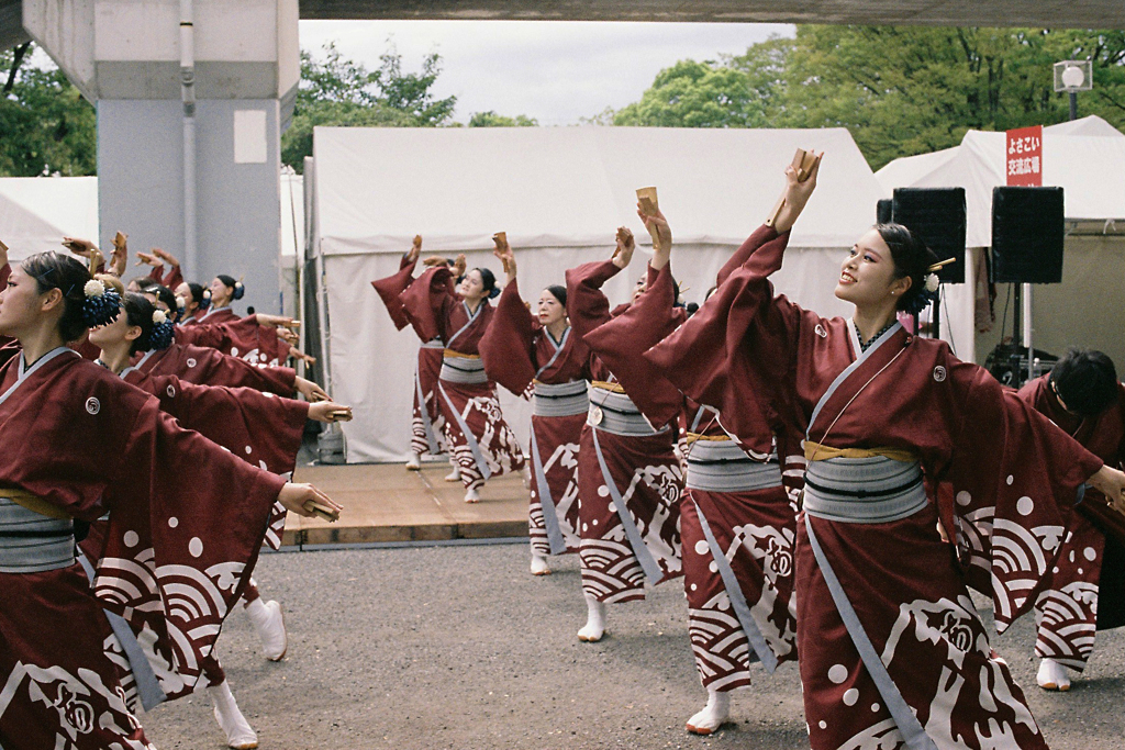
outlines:
[[[421,253],[422,235],[415,235],[410,251],[403,255],[398,273],[371,282],[399,331],[410,325],[399,297],[414,282],[414,268]],[[414,370],[414,408],[411,417],[411,459],[406,462],[406,469],[410,471],[422,469],[423,454],[440,455],[448,452],[446,418],[441,414],[441,401],[438,397],[438,379],[441,377],[444,350],[446,345],[441,338],[423,341],[418,347],[418,363]],[[456,471],[457,463],[452,457],[450,462],[457,473],[453,479],[457,480],[460,475]]]

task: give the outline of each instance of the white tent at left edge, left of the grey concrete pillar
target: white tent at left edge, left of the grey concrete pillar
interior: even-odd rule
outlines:
[[[61,250],[64,236],[98,238],[98,178],[0,178],[0,240],[12,261]]]

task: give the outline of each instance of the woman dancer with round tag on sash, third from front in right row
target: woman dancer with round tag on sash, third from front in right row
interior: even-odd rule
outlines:
[[[644,359],[630,356],[623,338],[649,335],[658,341],[669,333],[667,316],[639,320],[654,332],[621,331],[606,326],[614,314],[602,286],[632,260],[632,233],[618,229],[616,249],[606,261],[570,269],[566,273],[567,313],[577,335],[593,352],[590,417],[578,452],[578,518],[582,544],[582,582],[587,620],[578,640],[600,641],[605,633],[605,605],[645,598],[645,584],[656,585],[681,575],[680,498],[684,479],[674,445],[676,419],[683,399]],[[670,292],[668,253],[672,236],[654,246],[647,287],[662,275],[667,282],[663,305],[675,302]],[[634,299],[647,293],[638,283]],[[678,322],[678,320],[676,320]]]

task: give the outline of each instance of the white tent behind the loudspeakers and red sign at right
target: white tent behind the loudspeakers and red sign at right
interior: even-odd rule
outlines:
[[[898,159],[875,177],[888,197],[894,188],[964,188],[965,244],[983,249],[992,244],[992,189],[1006,184],[1005,163],[1004,133],[970,130],[958,146]],[[1043,128],[1043,184],[1063,188],[1069,234],[1063,282],[1033,291],[1033,343],[1055,354],[1069,345],[1096,347],[1125,365],[1125,240],[1115,236],[1125,229],[1125,135],[1094,116]],[[945,287],[943,314],[948,306],[962,358],[975,353],[981,361],[999,343],[1007,291],[1000,290],[994,331],[978,335],[972,284]]]

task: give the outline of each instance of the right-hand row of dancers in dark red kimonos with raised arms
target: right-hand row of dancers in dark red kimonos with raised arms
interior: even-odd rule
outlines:
[[[817,750],[1045,748],[969,591],[991,597],[1000,632],[1034,611],[1045,689],[1125,624],[1125,388],[1105,354],[1072,351],[1016,392],[912,333],[942,263],[900,225],[846,253],[850,318],[776,295],[820,156],[785,170],[691,316],[668,220],[645,200],[652,259],[615,308],[601,289],[630,265],[624,227],[534,314],[503,233],[503,291],[464,256],[414,278],[415,237],[372,282],[422,341],[407,468],[448,452],[469,503],[524,471],[531,572],[577,552],[582,641],[603,638],[608,604],[682,576],[708,692],[690,732],[728,721],[754,661],[795,660]],[[532,401],[530,458],[497,383]]]

